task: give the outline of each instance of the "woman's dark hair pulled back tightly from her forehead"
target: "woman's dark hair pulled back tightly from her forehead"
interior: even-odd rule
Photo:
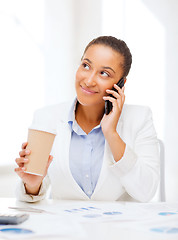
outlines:
[[[108,46],[112,48],[112,50],[120,53],[124,57],[124,63],[122,64],[122,67],[123,67],[123,77],[126,77],[130,71],[131,64],[132,64],[132,54],[130,52],[130,49],[127,47],[127,44],[123,40],[117,39],[112,36],[100,36],[98,38],[93,39],[86,46],[84,50],[84,54],[86,53],[89,47],[95,44]]]

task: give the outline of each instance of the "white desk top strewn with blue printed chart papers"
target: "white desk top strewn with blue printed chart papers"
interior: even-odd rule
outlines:
[[[52,228],[57,222],[61,229],[64,228],[64,231],[59,231],[58,236],[57,233],[43,237],[34,235],[33,238],[28,239],[178,240],[178,232],[176,233],[178,231],[178,203],[145,204],[52,199],[37,203],[23,203],[15,199],[1,198],[0,210],[9,209],[8,207],[42,211],[41,213],[29,212],[30,218],[18,227],[33,229],[34,221],[37,221],[36,225],[44,224],[44,231],[50,227],[51,231],[49,232],[52,232]],[[172,233],[169,233],[171,231]],[[0,240],[2,239],[5,238],[0,235]],[[16,239],[27,238],[20,238],[19,235]]]

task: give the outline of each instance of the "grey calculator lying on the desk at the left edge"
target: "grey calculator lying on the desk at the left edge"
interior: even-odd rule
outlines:
[[[27,213],[0,213],[0,225],[1,224],[19,224],[26,221],[29,218]]]

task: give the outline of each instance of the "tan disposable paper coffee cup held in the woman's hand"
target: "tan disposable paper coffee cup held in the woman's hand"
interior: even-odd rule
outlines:
[[[53,133],[28,129],[28,145],[26,149],[30,150],[30,155],[25,156],[25,158],[29,159],[29,162],[24,165],[26,173],[44,175],[55,136]]]

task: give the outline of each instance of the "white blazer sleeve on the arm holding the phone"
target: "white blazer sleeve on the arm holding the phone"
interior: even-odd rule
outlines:
[[[143,109],[142,109],[143,110]],[[111,165],[114,173],[120,178],[125,191],[140,202],[153,198],[159,183],[159,143],[153,125],[152,112],[145,107],[137,123],[132,118],[133,144],[126,142],[125,153],[117,163]],[[139,124],[138,124],[139,122]],[[138,126],[139,125],[139,126]],[[135,127],[137,126],[137,127]]]

